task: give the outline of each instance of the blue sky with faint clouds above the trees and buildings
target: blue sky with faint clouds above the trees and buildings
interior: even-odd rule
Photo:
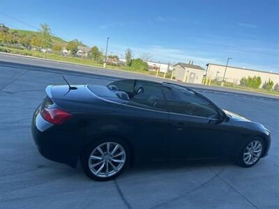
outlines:
[[[279,1],[15,1],[1,0],[0,22],[52,33],[123,56],[154,61],[225,64],[279,72]]]

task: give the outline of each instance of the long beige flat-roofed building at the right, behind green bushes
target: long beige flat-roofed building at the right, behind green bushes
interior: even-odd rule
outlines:
[[[225,73],[225,65],[217,65],[213,63],[208,63],[206,68],[206,76],[209,76],[211,79],[217,79],[217,81],[222,82],[224,73]],[[273,87],[279,83],[279,73],[276,72],[264,72],[259,70],[251,70],[246,68],[236,68],[232,66],[227,66],[226,74],[225,74],[225,82],[231,82],[234,84],[240,84],[240,80],[243,77],[261,77],[262,85],[264,82],[268,82],[269,79],[273,81]]]

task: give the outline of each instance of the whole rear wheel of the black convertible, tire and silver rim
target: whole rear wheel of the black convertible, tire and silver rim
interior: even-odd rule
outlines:
[[[81,164],[89,178],[105,181],[119,176],[126,168],[129,158],[129,148],[125,141],[104,139],[86,148]]]

